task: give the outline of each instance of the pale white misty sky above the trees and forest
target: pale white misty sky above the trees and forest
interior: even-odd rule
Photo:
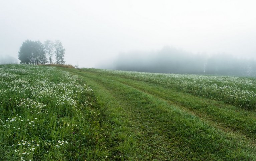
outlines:
[[[256,58],[256,1],[1,0],[0,56],[60,40],[67,64],[95,67],[120,52],[164,46]]]

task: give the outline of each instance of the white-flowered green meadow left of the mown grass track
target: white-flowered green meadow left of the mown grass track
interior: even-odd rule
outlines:
[[[0,160],[85,160],[100,141],[93,92],[54,67],[0,65]],[[103,138],[103,136],[102,136]]]

